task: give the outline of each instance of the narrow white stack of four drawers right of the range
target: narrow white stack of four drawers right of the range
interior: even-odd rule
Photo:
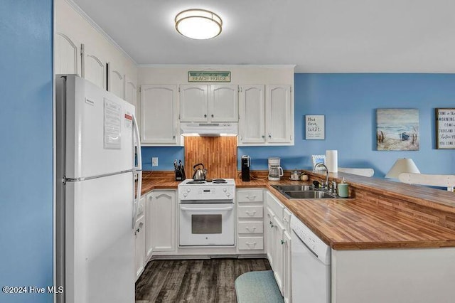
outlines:
[[[237,191],[237,252],[264,253],[264,202],[262,189]]]

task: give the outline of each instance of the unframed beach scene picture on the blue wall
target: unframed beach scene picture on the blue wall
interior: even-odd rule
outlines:
[[[419,142],[419,110],[397,108],[376,110],[378,151],[418,151]]]

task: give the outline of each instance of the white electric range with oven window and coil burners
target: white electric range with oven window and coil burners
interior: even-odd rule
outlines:
[[[178,184],[179,245],[235,245],[234,179],[193,180]]]

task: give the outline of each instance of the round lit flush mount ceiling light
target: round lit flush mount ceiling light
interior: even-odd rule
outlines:
[[[192,39],[210,39],[221,33],[223,21],[205,9],[187,9],[176,16],[176,30]]]

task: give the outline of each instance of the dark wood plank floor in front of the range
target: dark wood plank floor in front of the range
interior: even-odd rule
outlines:
[[[136,302],[237,302],[235,279],[270,270],[267,259],[153,260],[136,282]]]

